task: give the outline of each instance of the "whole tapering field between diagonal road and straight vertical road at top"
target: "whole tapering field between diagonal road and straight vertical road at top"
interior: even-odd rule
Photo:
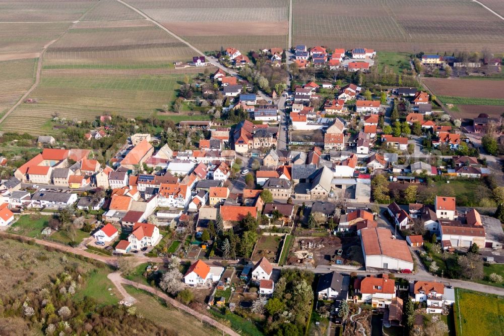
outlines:
[[[203,51],[287,47],[289,2],[128,0],[173,33]]]

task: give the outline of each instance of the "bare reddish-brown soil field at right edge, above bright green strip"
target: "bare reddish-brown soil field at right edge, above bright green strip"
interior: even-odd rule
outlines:
[[[438,96],[504,97],[504,81],[499,80],[424,78],[422,81]]]

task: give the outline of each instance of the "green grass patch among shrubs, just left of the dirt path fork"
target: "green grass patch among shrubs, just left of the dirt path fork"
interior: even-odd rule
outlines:
[[[117,304],[120,298],[117,289],[107,278],[109,272],[108,268],[93,270],[86,276],[83,288],[77,292],[74,298],[82,300],[87,296],[103,305]],[[110,291],[109,288],[111,288]]]

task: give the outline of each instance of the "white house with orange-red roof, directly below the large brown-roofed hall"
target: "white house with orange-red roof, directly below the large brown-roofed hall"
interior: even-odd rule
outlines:
[[[396,284],[388,274],[374,275],[355,279],[354,289],[362,295],[362,302],[370,303],[374,308],[386,308],[396,297]]]

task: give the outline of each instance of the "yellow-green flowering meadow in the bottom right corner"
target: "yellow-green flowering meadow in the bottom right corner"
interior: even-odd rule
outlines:
[[[463,336],[504,334],[504,298],[456,289],[455,327]]]

